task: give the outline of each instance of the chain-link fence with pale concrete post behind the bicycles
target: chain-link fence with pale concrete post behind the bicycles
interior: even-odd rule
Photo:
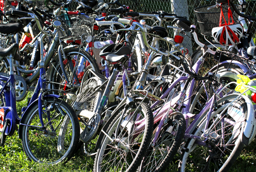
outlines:
[[[111,1],[114,0],[104,0],[105,3],[110,3]],[[234,4],[238,4],[238,1],[232,1]],[[200,33],[200,28],[197,22],[197,18],[194,12],[194,9],[197,7],[201,7],[201,6],[206,6],[206,5],[210,5],[210,4],[216,4],[215,0],[206,0],[206,1],[202,1],[202,0],[120,0],[120,3],[126,6],[129,6],[131,10],[133,11],[137,11],[137,12],[152,12],[152,11],[165,11],[167,13],[178,13],[178,15],[182,16],[185,15],[186,17],[188,17],[188,20],[190,20],[190,22],[192,22],[194,25],[197,26],[197,33]],[[187,4],[186,4],[187,3]],[[246,10],[246,14],[252,15],[252,16],[256,16],[256,0],[248,0],[247,1],[248,6],[247,6],[247,10]],[[111,8],[117,8],[117,6],[112,6]],[[150,21],[148,23],[153,24],[152,21]],[[168,25],[171,25],[170,22],[164,22],[163,26],[167,27]],[[256,28],[256,27],[255,27]],[[171,29],[168,29],[169,31],[169,37],[172,37],[174,34],[174,31]],[[202,42],[205,42],[204,37],[199,35],[199,39]],[[189,39],[190,36],[188,36]],[[252,31],[252,37],[255,39],[255,31]],[[207,37],[208,40],[212,40],[211,37]],[[193,46],[193,50],[196,49],[196,47],[198,47],[197,45],[195,45],[195,41],[191,41],[190,45],[189,45],[189,41],[187,41],[188,43],[184,46],[189,47],[191,46],[191,42],[192,42],[192,46]]]

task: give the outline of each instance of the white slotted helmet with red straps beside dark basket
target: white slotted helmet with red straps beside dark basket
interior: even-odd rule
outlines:
[[[236,45],[243,36],[243,27],[241,24],[216,27],[212,28],[211,34],[222,46]]]

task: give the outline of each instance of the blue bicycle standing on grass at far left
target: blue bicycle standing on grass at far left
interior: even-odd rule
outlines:
[[[79,140],[79,122],[75,112],[60,99],[61,96],[47,93],[50,90],[46,89],[45,61],[41,58],[36,90],[28,106],[23,107],[22,118],[18,117],[13,71],[13,56],[17,48],[18,45],[14,44],[5,52],[10,61],[10,77],[0,76],[1,109],[4,109],[4,115],[1,114],[0,118],[3,124],[1,145],[4,145],[6,136],[13,135],[16,124],[19,124],[19,138],[30,160],[49,164],[67,161],[72,157]]]

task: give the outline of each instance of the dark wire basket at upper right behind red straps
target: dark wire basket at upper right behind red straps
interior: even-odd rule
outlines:
[[[212,5],[207,5],[203,7],[198,7],[194,9],[194,12],[196,13],[198,24],[200,27],[200,31],[202,35],[205,36],[212,36],[211,35],[211,30],[214,27],[219,27],[220,24],[220,15],[221,15],[221,8],[212,8],[210,10],[207,10],[207,8],[213,6]],[[241,6],[237,6],[238,9],[241,9]],[[228,22],[228,14],[227,10],[228,5],[222,5],[222,11],[224,18],[226,22]],[[230,7],[232,14],[233,14],[233,20],[235,23],[238,22],[238,15],[234,10]],[[231,22],[232,19],[230,18]],[[224,20],[222,19],[222,24],[225,24]]]

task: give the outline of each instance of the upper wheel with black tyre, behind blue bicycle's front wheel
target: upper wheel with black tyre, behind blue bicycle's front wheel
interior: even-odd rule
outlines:
[[[65,61],[65,71],[66,74],[68,75],[69,80],[72,78],[72,70],[73,70],[73,61],[72,59],[77,58],[77,54],[79,52],[79,56],[82,56],[83,58],[85,58],[85,62],[89,62],[90,63],[90,68],[93,69],[95,72],[99,72],[99,67],[95,61],[95,59],[86,51],[84,50],[80,50],[78,48],[70,48],[67,50],[64,50],[66,57],[67,57],[67,61],[65,61],[65,59],[63,59],[63,61]],[[79,57],[78,57],[79,58]],[[79,62],[79,61],[78,61]],[[83,69],[83,72],[85,72],[86,69]],[[75,78],[79,79],[79,76],[77,76],[77,74],[74,72],[73,73]],[[82,79],[82,78],[80,78]],[[50,89],[56,89],[56,90],[66,90],[68,91],[69,89],[67,88],[67,84],[66,84],[66,78],[63,76],[63,72],[60,68],[60,64],[59,64],[59,59],[58,59],[58,55],[56,55],[52,62],[50,63],[50,67],[48,70],[48,74],[47,74],[47,78],[46,80],[50,83],[48,84],[48,88]],[[76,81],[74,79],[74,81]],[[80,80],[79,80],[80,81]],[[77,81],[76,81],[77,82]],[[77,85],[79,85],[79,83],[76,83]],[[70,91],[71,92],[75,92],[77,89],[77,87],[72,88]]]

